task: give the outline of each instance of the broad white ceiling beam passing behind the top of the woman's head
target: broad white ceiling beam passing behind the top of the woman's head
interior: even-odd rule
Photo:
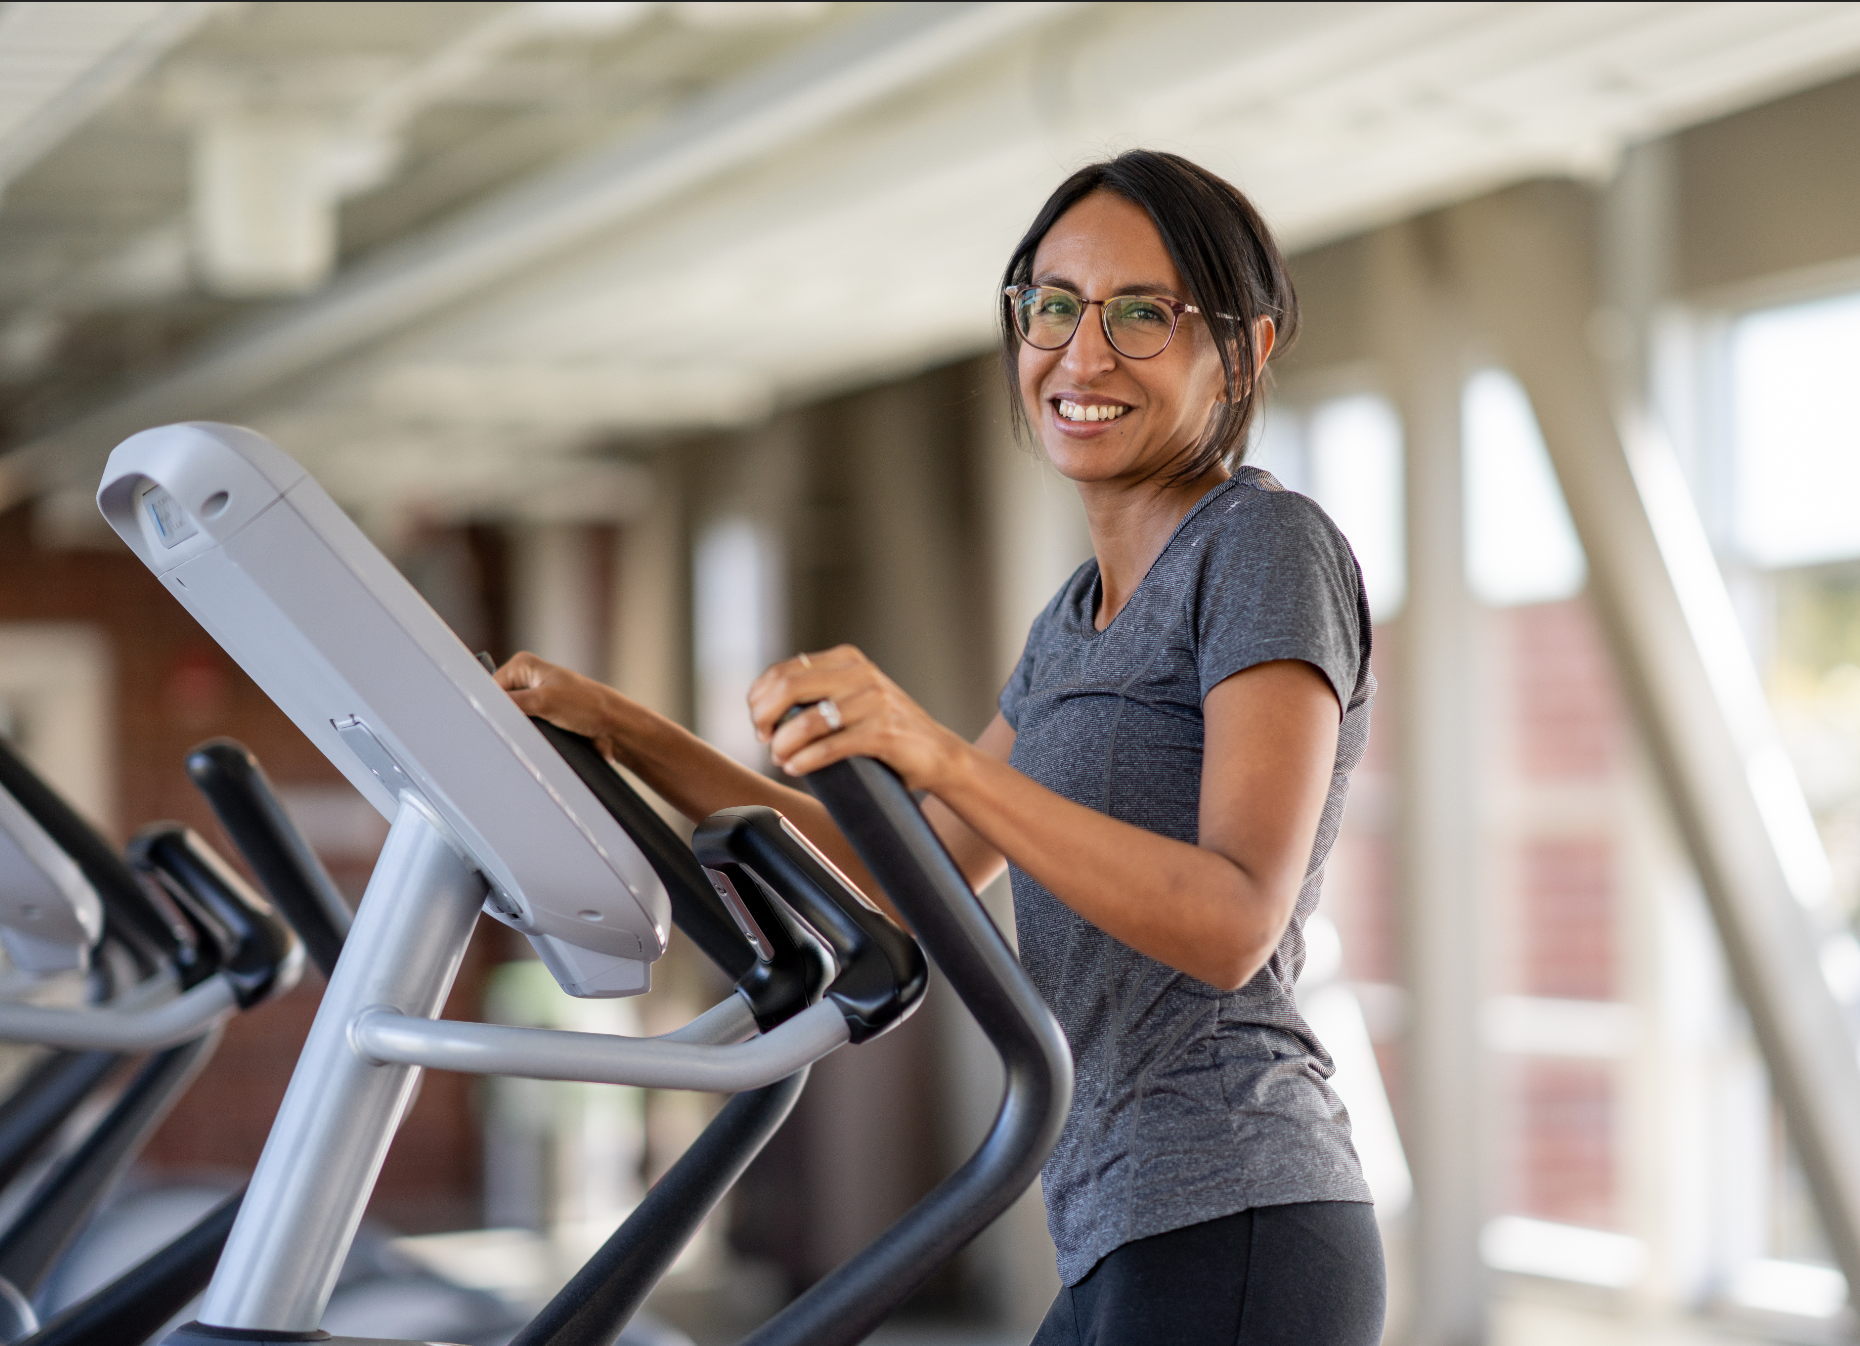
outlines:
[[[1828,61],[1860,63],[1860,6],[1112,13],[1055,43],[1071,65],[1055,65],[1051,84],[1077,86],[1079,117],[1056,115],[1051,91],[1014,63],[986,80],[962,71],[906,117],[794,145],[409,329],[333,370],[318,396],[456,424],[515,424],[547,402],[528,424],[560,433],[577,420],[716,424],[753,413],[753,398],[725,392],[753,387],[757,372],[777,403],[986,346],[993,277],[1019,229],[1066,165],[1107,145],[1183,149],[1252,191],[1289,245],[1309,245],[1521,177],[1605,171],[1624,139],[1767,97],[1789,65],[1812,80]],[[1129,102],[1116,73],[1161,69],[1170,50],[1185,54],[1179,84]],[[1763,59],[1724,61],[1732,50]],[[1101,113],[1097,89],[1110,100]],[[642,323],[664,310],[655,305],[671,309]],[[857,329],[872,305],[885,322]],[[705,312],[729,320],[707,325]],[[400,379],[402,363],[420,377]],[[716,400],[703,398],[707,383]],[[545,387],[558,396],[538,398]]]

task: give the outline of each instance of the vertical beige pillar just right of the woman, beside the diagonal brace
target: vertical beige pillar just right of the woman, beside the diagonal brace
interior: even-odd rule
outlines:
[[[1408,599],[1397,632],[1401,904],[1408,1034],[1404,1141],[1414,1169],[1414,1346],[1486,1333],[1482,969],[1473,887],[1471,600],[1460,470],[1464,327],[1434,219],[1375,240],[1376,346],[1401,411]]]

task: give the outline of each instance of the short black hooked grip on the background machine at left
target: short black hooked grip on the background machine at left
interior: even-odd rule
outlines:
[[[128,863],[160,883],[214,943],[219,974],[232,983],[240,1010],[296,985],[303,944],[192,827],[143,827],[128,844]]]

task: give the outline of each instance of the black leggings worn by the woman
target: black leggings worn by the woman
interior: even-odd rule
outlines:
[[[1116,1249],[1032,1346],[1376,1346],[1384,1296],[1375,1207],[1259,1207]]]

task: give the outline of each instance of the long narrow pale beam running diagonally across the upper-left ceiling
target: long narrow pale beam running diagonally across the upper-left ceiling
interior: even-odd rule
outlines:
[[[900,4],[694,99],[619,145],[381,249],[311,299],[257,320],[123,400],[0,459],[0,509],[91,470],[151,424],[225,415],[253,394],[627,223],[976,52],[1064,2]]]

